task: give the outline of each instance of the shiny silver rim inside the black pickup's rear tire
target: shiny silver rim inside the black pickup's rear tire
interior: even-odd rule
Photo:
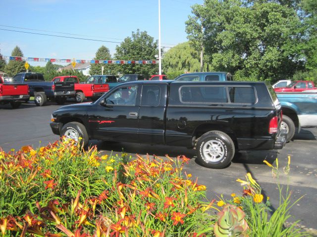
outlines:
[[[210,140],[203,146],[204,159],[208,162],[217,162],[224,158],[225,148],[220,141]]]

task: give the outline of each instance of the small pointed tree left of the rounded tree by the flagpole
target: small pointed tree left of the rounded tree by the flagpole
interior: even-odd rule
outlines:
[[[102,45],[96,52],[96,57],[94,60],[111,60],[111,54],[109,49]],[[90,67],[90,75],[101,75],[102,74],[102,66],[104,66],[104,75],[106,74],[114,74],[115,73],[115,65],[98,63],[92,64]]]

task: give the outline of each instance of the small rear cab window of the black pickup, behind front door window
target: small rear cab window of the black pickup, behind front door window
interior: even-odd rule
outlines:
[[[143,85],[141,106],[159,106],[160,87],[157,85]]]

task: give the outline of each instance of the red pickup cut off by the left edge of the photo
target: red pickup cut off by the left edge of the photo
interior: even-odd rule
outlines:
[[[6,84],[0,77],[0,104],[10,103],[13,109],[18,108],[20,104],[30,99],[29,86],[19,83]]]

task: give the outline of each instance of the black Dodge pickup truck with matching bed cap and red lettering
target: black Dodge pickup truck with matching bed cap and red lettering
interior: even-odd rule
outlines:
[[[282,149],[281,117],[264,82],[132,81],[94,103],[61,107],[51,128],[84,146],[98,139],[196,148],[202,165],[223,168],[238,150]]]

